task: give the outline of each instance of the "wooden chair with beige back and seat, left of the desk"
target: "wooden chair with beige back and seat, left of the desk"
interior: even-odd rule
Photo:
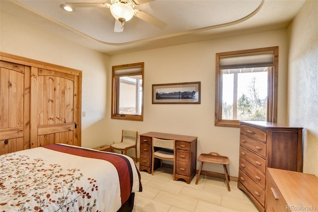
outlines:
[[[127,150],[135,148],[136,163],[137,163],[137,139],[138,131],[122,130],[122,136],[120,143],[114,143],[110,145],[110,151],[114,150],[121,151],[121,154],[127,155]]]

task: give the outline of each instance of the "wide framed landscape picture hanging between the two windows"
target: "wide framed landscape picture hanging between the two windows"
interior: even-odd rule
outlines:
[[[154,84],[153,104],[201,104],[201,82]]]

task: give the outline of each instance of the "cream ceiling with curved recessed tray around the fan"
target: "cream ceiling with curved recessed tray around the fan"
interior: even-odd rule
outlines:
[[[137,1],[137,0],[136,0]],[[209,40],[250,32],[285,28],[305,0],[153,0],[135,6],[165,22],[159,29],[138,17],[114,32],[109,8],[61,9],[66,2],[109,0],[0,0],[1,13],[44,31],[112,55]]]

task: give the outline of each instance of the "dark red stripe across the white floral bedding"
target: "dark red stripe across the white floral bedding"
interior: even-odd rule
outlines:
[[[63,153],[68,153],[72,155],[77,155],[81,157],[87,157],[87,158],[96,158],[96,159],[101,159],[101,160],[106,160],[110,163],[112,163],[115,168],[117,169],[118,172],[118,177],[119,177],[119,183],[120,183],[120,190],[121,190],[121,202],[124,204],[130,194],[131,194],[131,188],[132,184],[130,183],[130,173],[129,172],[129,166],[127,162],[121,155],[115,155],[107,152],[97,152],[97,151],[92,151],[88,149],[81,149],[77,147],[71,147],[71,146],[65,146],[65,145],[59,145],[59,144],[50,144],[47,146],[43,146],[44,148],[63,152]]]

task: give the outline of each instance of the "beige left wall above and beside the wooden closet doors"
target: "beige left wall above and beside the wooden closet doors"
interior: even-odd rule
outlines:
[[[0,13],[0,51],[82,71],[82,145],[105,140],[108,56]]]

